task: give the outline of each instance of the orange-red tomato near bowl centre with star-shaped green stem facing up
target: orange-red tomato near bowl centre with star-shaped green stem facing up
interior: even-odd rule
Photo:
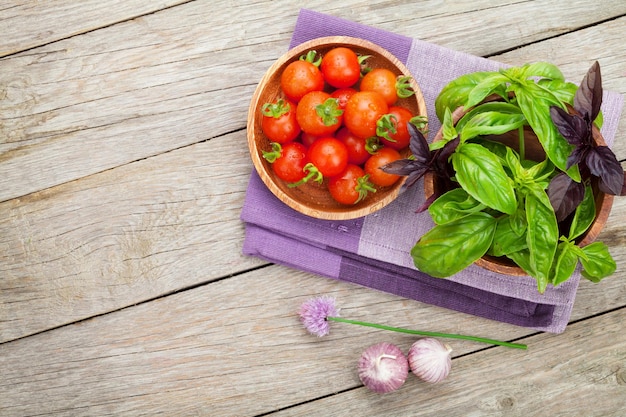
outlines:
[[[311,91],[298,103],[296,118],[302,131],[314,136],[328,136],[341,126],[343,110],[330,94]]]

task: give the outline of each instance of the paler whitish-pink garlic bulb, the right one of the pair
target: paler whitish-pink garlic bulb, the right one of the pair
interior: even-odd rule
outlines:
[[[452,368],[452,348],[430,337],[417,340],[409,349],[411,372],[425,382],[436,384],[446,379]]]

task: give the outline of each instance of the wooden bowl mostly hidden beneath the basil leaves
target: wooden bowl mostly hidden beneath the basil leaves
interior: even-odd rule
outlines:
[[[456,124],[466,113],[467,112],[464,111],[463,107],[457,108],[454,112],[452,112],[453,123]],[[606,146],[604,137],[595,125],[592,128],[592,134],[596,144]],[[439,129],[433,141],[442,140],[442,135],[443,128]],[[543,159],[545,159],[545,151],[539,143],[539,140],[537,139],[535,133],[530,128],[526,127],[524,136],[526,138],[526,157],[534,161],[542,161]],[[534,141],[532,140],[533,137],[535,139]],[[500,141],[505,145],[515,149],[516,151],[519,151],[519,139],[517,131],[509,132],[508,134],[505,133],[504,135],[492,136],[489,137],[489,139]],[[430,172],[424,175],[424,193],[426,195],[426,198],[429,198],[435,192],[445,192],[446,190],[443,190],[442,188],[443,187],[437,181],[435,175]],[[592,188],[596,203],[596,217],[589,229],[587,229],[585,233],[583,233],[580,237],[578,237],[578,239],[576,239],[576,244],[581,247],[586,246],[597,239],[598,235],[606,224],[606,221],[611,212],[611,207],[613,206],[612,195],[605,194],[600,191],[597,187],[597,184],[592,183]],[[485,255],[477,260],[475,264],[489,271],[497,272],[500,274],[514,276],[528,275],[526,272],[524,272],[522,268],[517,266],[515,262],[505,256],[494,257],[490,255]]]

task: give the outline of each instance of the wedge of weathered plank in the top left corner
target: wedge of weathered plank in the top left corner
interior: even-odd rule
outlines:
[[[184,3],[141,0],[34,1],[0,6],[0,57]]]

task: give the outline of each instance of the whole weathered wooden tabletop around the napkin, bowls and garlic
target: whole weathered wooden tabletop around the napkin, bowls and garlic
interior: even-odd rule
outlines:
[[[624,416],[626,199],[559,335],[242,254],[247,109],[300,7],[626,94],[626,2],[5,1],[0,5],[0,415]],[[626,117],[614,147],[626,160]],[[296,311],[518,340],[451,341],[442,384],[371,393],[356,361],[413,337]]]

